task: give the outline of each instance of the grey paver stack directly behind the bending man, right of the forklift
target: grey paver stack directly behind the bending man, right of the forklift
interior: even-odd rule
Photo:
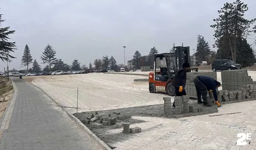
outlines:
[[[210,76],[217,80],[217,73],[216,72],[187,72],[187,81],[186,81],[186,94],[189,96],[194,96],[196,97],[196,87],[194,84],[194,78],[196,76]]]

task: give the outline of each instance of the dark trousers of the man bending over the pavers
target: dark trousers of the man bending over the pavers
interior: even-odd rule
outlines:
[[[197,100],[199,102],[201,102],[201,95],[202,95],[202,98],[203,98],[203,101],[204,103],[207,103],[207,88],[206,86],[200,81],[200,78],[197,76],[195,79],[194,79],[194,84],[196,86],[196,93],[197,93]]]

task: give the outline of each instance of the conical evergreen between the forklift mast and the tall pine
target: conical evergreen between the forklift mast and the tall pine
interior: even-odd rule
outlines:
[[[204,39],[204,36],[198,35],[197,46],[195,52],[196,66],[199,66],[202,61],[207,61],[210,56],[210,46]]]

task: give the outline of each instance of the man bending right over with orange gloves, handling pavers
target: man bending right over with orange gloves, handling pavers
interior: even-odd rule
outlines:
[[[220,82],[214,80],[214,78],[211,78],[209,76],[196,76],[196,78],[194,79],[194,84],[196,86],[198,104],[203,103],[203,106],[212,106],[207,102],[207,92],[212,92],[215,99],[215,104],[220,106],[216,91],[217,88],[220,87]],[[203,102],[201,100],[201,95],[203,98]]]

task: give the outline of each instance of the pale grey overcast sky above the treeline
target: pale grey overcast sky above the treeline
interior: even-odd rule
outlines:
[[[136,50],[147,55],[156,46],[160,53],[168,52],[172,43],[190,46],[192,55],[198,34],[212,47],[210,25],[225,2],[233,0],[1,0],[2,27],[16,30],[10,42],[18,49],[9,69],[26,68],[21,66],[26,44],[38,62],[50,44],[65,63],[77,59],[86,66],[103,55],[124,64],[122,46],[127,47],[126,64]],[[249,6],[246,18],[255,18],[256,0],[243,2]],[[3,71],[7,65],[0,66]]]

